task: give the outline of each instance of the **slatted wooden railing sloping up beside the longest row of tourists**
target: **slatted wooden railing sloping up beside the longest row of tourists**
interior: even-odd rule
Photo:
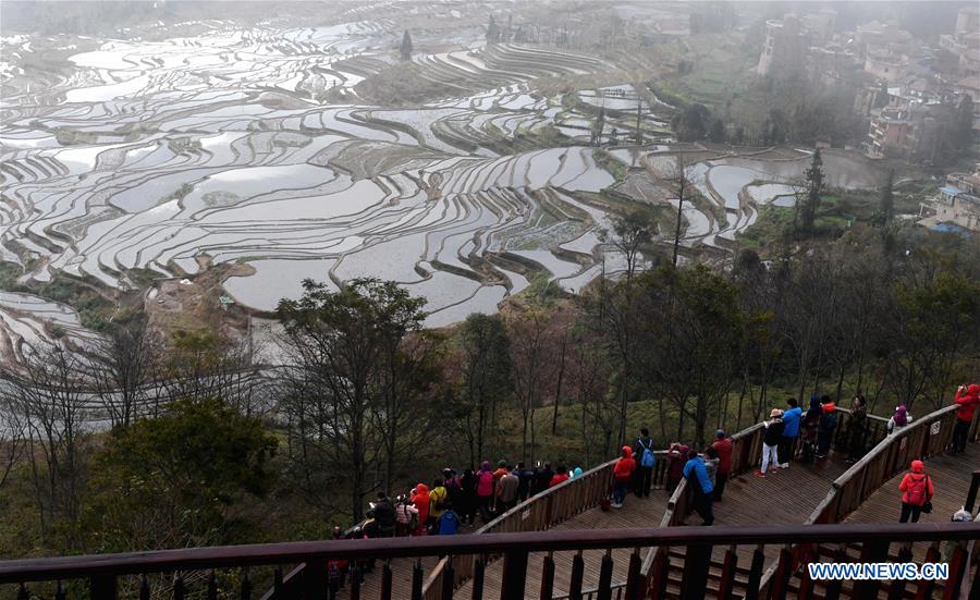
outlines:
[[[652,487],[662,488],[666,482],[666,453],[656,451],[653,454],[657,460],[653,464]],[[477,529],[475,535],[544,531],[592,509],[610,497],[613,466],[617,460],[603,463],[578,477],[529,498]],[[492,554],[481,556],[455,554],[451,559],[442,559],[426,579],[425,598],[427,600],[445,598],[443,587],[448,581],[452,580],[453,589],[458,588],[473,578],[478,562],[486,565],[497,558]],[[448,577],[446,573],[451,573],[452,577]]]

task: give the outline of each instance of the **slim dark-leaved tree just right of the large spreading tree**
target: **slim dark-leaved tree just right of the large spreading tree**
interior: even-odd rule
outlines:
[[[474,314],[460,327],[462,393],[458,404],[463,436],[470,464],[487,456],[494,431],[497,408],[513,390],[511,341],[499,315]]]

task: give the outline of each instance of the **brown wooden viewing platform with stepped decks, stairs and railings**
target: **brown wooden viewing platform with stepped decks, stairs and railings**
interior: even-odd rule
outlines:
[[[838,409],[845,444],[849,414]],[[328,598],[329,560],[373,559],[363,581],[350,578],[338,598],[450,600],[539,598],[943,598],[980,595],[980,522],[950,523],[960,506],[976,511],[980,487],[978,424],[967,451],[945,454],[955,407],[929,414],[893,436],[872,423],[867,454],[846,465],[832,454],[754,477],[762,427],[733,436],[733,476],[714,504],[715,524],[691,517],[684,481],[667,498],[666,461],[658,453],[654,490],[630,494],[622,510],[602,510],[614,462],[549,489],[473,535],[311,541],[198,548],[128,554],[0,562],[0,585],[29,598],[35,581],[87,580],[91,598],[150,598],[148,576],[164,574],[167,597],[183,599]],[[836,441],[836,440],[835,440]],[[797,452],[799,449],[797,449]],[[898,481],[914,458],[926,461],[935,486],[933,511],[899,524]],[[691,526],[694,525],[694,526]],[[820,562],[947,562],[946,581],[813,581]],[[249,567],[277,567],[271,589],[249,583]],[[230,595],[219,579],[233,581]],[[77,584],[76,584],[77,587]],[[160,597],[159,585],[154,597]],[[128,593],[132,592],[132,593]],[[56,592],[57,593],[57,592]],[[966,597],[966,596],[965,596]]]

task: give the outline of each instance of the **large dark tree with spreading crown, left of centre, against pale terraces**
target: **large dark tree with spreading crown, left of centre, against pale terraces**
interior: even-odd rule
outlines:
[[[409,352],[426,301],[376,279],[355,279],[335,292],[311,280],[303,287],[299,299],[283,299],[277,309],[285,330],[278,397],[290,473],[316,505],[326,506],[324,489],[348,489],[350,515],[357,518],[365,494],[391,485],[390,454],[409,433],[430,430],[430,404],[419,396],[432,383],[431,355]],[[406,372],[419,366],[421,377]],[[380,480],[370,481],[378,470]]]

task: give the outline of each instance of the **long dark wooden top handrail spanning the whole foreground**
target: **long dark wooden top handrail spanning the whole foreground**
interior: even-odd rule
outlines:
[[[747,527],[642,527],[520,534],[422,536],[182,548],[0,561],[0,584],[270,565],[307,560],[363,560],[517,552],[562,552],[649,546],[943,541],[980,536],[980,523],[835,524]]]

